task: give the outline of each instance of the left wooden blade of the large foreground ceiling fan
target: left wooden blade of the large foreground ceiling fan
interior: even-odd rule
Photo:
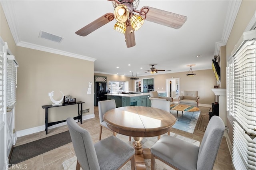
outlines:
[[[88,34],[94,32],[95,30],[104,26],[105,24],[107,24],[108,22],[110,22],[112,20],[114,20],[114,14],[106,13],[103,16],[101,16],[100,18],[98,18],[98,19],[94,20],[93,22],[91,22],[90,24],[88,24],[87,26],[84,26],[83,28],[78,30],[76,32],[76,34],[79,36],[87,36]]]

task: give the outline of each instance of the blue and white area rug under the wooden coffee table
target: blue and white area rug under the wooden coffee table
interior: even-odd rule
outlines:
[[[198,121],[198,118],[200,116],[200,111],[196,112],[182,112],[179,111],[179,121],[177,119],[177,111],[171,111],[172,115],[176,117],[176,123],[172,126],[173,128],[189,132],[189,133],[194,133],[196,123]],[[191,119],[191,120],[190,120]]]

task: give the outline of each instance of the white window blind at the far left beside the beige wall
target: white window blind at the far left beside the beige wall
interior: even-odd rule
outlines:
[[[11,111],[16,104],[17,64],[14,60],[7,60],[6,67],[6,107]]]

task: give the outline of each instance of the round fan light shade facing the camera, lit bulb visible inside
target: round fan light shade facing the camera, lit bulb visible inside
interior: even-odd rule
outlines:
[[[128,8],[123,4],[119,4],[118,6],[116,6],[114,10],[114,17],[117,22],[120,22],[120,23],[126,22],[126,20],[129,17]]]

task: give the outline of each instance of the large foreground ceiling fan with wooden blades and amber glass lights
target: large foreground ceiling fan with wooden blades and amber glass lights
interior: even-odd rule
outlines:
[[[115,8],[114,14],[104,14],[100,18],[78,30],[76,32],[77,35],[87,36],[108,22],[116,19],[117,22],[114,25],[114,29],[124,34],[127,47],[133,47],[135,46],[134,31],[140,29],[144,23],[144,20],[175,29],[179,29],[187,20],[186,16],[159,10],[149,6],[144,6],[140,10],[136,10],[140,0],[108,1],[112,1],[112,4]],[[138,15],[134,13],[138,13]]]

